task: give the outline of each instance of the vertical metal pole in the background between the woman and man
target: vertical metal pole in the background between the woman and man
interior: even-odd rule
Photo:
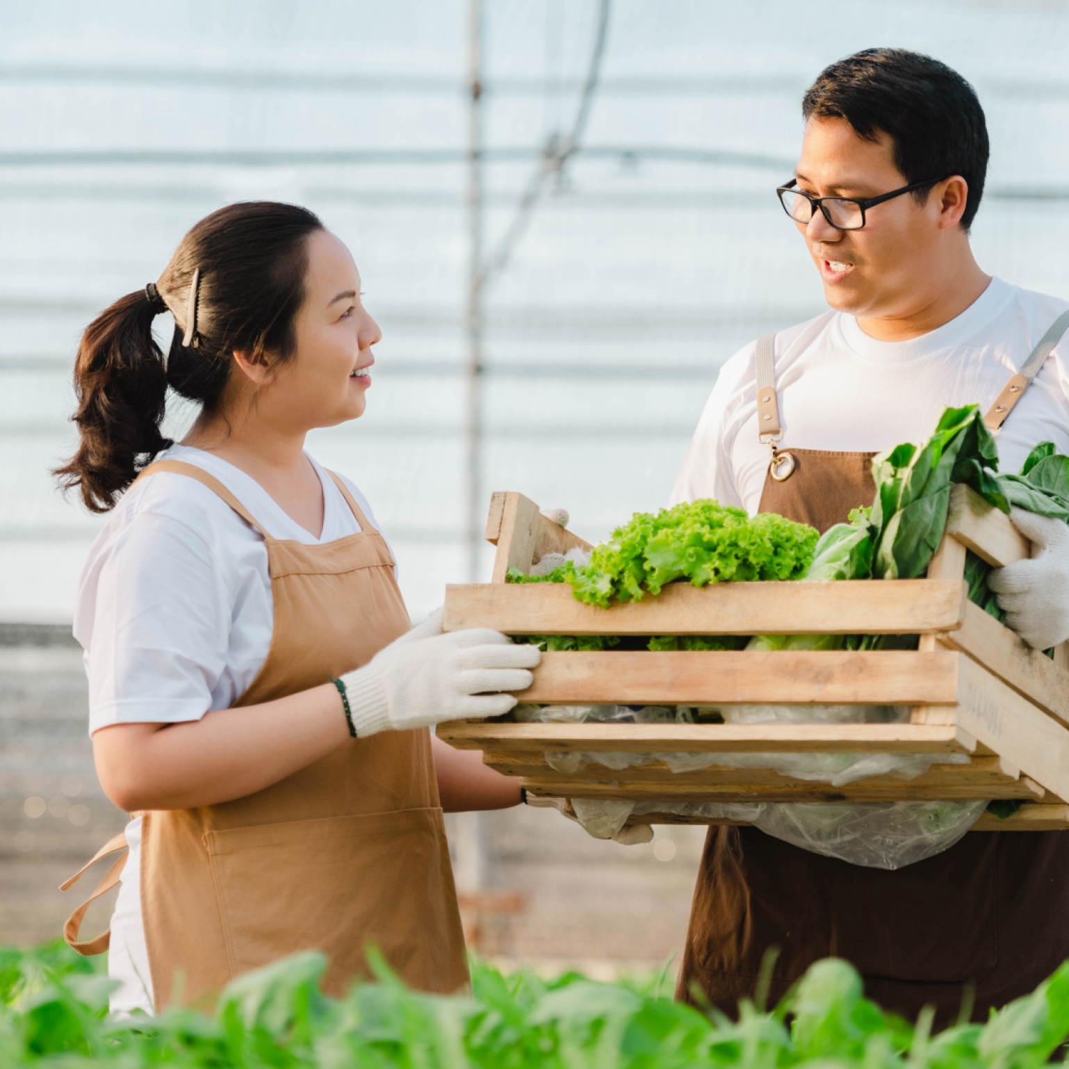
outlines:
[[[468,582],[479,579],[482,547],[482,0],[470,0],[468,38],[468,299],[464,534]]]

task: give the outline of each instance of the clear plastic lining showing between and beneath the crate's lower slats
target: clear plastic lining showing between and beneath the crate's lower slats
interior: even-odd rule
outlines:
[[[647,706],[518,706],[516,718],[541,723],[690,723],[709,709]],[[730,706],[716,710],[725,723],[897,723],[909,710],[892,706]],[[965,763],[957,754],[631,754],[546,753],[558,772],[574,774],[587,764],[622,770],[664,761],[673,772],[722,768],[775,769],[799,779],[839,786],[873,775],[912,779],[933,763]],[[632,816],[668,812],[755,824],[766,835],[803,850],[852,865],[896,869],[954,846],[979,819],[986,802],[626,802],[572,799],[583,827],[592,836],[618,835]]]

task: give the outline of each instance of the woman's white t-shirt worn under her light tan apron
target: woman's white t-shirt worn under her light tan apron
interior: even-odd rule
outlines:
[[[185,461],[215,476],[273,538],[320,545],[360,530],[314,460],[324,498],[319,538],[254,479],[212,453],[172,446],[158,460]],[[377,527],[363,495],[344,482]],[[74,634],[86,651],[90,733],[112,724],[198,721],[229,709],[266,660],[273,624],[260,532],[188,476],[161,471],[135,483],[93,543],[78,585]],[[140,818],[127,825],[126,840],[129,855],[111,919],[108,974],[120,983],[111,1008],[151,1013]]]

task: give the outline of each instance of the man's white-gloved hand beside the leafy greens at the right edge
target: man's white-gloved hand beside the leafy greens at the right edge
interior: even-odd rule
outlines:
[[[1069,525],[1024,509],[1010,513],[1013,526],[1033,543],[1033,556],[988,576],[1006,623],[1033,649],[1069,638]]]

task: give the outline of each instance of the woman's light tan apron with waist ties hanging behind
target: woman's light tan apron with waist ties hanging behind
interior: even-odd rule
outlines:
[[[235,707],[319,686],[408,631],[389,547],[337,476],[360,532],[304,545],[270,538],[195,465],[160,461],[141,478],[157,471],[202,482],[264,536],[275,609],[270,649]],[[233,977],[306,949],[326,952],[323,987],[331,994],[367,975],[369,945],[413,987],[451,992],[467,982],[425,728],[354,739],[248,797],[152,810],[142,821],[141,911],[157,1009],[210,1004]],[[119,836],[97,856],[124,847]],[[94,897],[118,882],[124,862],[125,855]],[[75,949],[99,954],[107,932],[78,943],[87,905],[64,934]]]

